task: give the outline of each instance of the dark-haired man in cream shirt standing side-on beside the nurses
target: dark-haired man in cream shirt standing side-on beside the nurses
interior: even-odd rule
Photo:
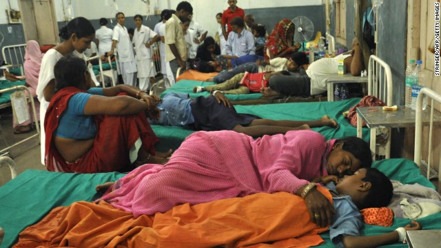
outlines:
[[[178,68],[185,70],[187,61],[187,44],[182,30],[183,18],[188,18],[193,13],[192,5],[182,1],[176,7],[176,14],[165,23],[165,61],[170,62],[170,68],[176,81]]]

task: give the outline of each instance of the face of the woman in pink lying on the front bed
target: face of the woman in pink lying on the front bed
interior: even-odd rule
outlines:
[[[327,156],[326,169],[329,175],[351,175],[361,167],[361,162],[353,154],[342,149],[342,146],[343,143],[337,143]]]

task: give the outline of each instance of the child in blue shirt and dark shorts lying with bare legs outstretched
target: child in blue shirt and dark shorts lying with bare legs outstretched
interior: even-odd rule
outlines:
[[[170,92],[156,101],[156,109],[147,113],[150,124],[191,127],[194,130],[233,130],[249,136],[285,134],[290,130],[310,127],[338,127],[325,115],[315,121],[275,121],[252,114],[238,114],[232,103],[220,91],[212,96],[189,99],[188,94]]]

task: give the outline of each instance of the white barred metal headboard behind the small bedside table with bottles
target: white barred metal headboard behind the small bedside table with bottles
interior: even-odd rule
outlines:
[[[382,61],[382,59],[375,55],[369,57],[367,88],[369,96],[376,96],[388,106],[393,105],[391,68],[386,62]]]

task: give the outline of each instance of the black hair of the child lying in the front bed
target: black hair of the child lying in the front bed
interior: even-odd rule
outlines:
[[[363,182],[370,182],[371,188],[362,200],[360,209],[368,207],[387,207],[391,202],[393,195],[393,186],[391,180],[376,168],[367,168]]]

